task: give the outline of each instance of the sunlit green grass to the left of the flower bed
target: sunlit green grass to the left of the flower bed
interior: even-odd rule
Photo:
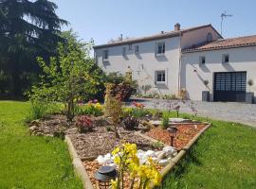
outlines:
[[[28,134],[27,107],[0,101],[0,188],[82,188],[64,141]]]

